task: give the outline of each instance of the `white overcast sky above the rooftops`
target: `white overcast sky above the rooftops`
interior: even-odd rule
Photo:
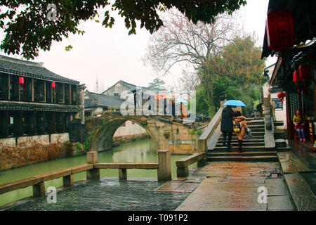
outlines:
[[[241,9],[245,16],[246,32],[256,32],[260,46],[263,43],[267,10],[268,0],[247,0],[247,5]],[[143,65],[140,58],[145,55],[150,32],[138,29],[136,35],[129,36],[124,20],[120,17],[115,17],[115,20],[112,29],[102,27],[102,20],[101,23],[92,20],[81,23],[81,30],[86,32],[84,36],[70,35],[68,39],[53,43],[51,51],[40,51],[35,61],[43,62],[45,68],[58,75],[86,84],[88,91],[96,91],[97,76],[98,93],[119,79],[138,86],[147,86],[156,75],[154,70]],[[4,37],[4,33],[1,33]],[[71,51],[65,51],[65,46],[68,45],[73,46]],[[270,65],[275,61],[276,58],[268,58],[266,64]],[[179,76],[180,68],[175,68],[172,75],[162,79],[167,85],[174,86],[178,84]]]

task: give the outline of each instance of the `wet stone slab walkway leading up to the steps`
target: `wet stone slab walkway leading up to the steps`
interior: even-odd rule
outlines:
[[[176,210],[295,210],[279,162],[210,162],[196,174],[206,179]],[[262,187],[266,203],[262,197],[258,202]]]

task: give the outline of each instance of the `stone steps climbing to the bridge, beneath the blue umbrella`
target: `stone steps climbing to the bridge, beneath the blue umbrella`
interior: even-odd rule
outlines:
[[[276,149],[265,148],[265,124],[263,118],[246,118],[248,127],[251,129],[251,137],[244,138],[242,142],[242,153],[238,153],[238,139],[232,134],[232,148],[223,146],[223,137],[220,136],[215,148],[209,149],[208,161],[249,161],[249,162],[277,162]],[[280,143],[280,148],[284,148]]]

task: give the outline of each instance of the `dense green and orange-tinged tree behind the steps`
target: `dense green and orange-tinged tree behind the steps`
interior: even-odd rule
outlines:
[[[250,115],[254,102],[260,98],[259,86],[265,82],[261,49],[254,46],[251,37],[235,37],[216,62],[214,104],[219,107],[219,96],[241,100],[247,105],[244,113]]]

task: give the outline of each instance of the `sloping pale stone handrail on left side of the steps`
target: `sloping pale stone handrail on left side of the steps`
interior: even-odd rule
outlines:
[[[216,129],[216,127],[220,123],[220,120],[222,119],[223,108],[225,108],[225,107],[223,107],[223,106],[220,107],[220,109],[213,116],[209,125],[206,127],[206,129],[204,129],[201,136],[199,136],[198,146],[197,146],[198,152],[207,152],[207,142],[211,138],[211,134]]]

